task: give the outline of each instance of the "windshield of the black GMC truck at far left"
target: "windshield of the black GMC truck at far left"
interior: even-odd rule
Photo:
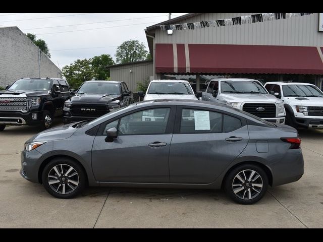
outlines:
[[[20,79],[16,81],[8,90],[34,90],[47,91],[51,87],[52,80],[44,79]]]

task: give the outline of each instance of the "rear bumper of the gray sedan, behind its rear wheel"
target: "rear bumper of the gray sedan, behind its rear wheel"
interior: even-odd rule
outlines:
[[[270,165],[273,187],[293,183],[304,174],[304,159],[301,149],[290,149],[280,160]]]

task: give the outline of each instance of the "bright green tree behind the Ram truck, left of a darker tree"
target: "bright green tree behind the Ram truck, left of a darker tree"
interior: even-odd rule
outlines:
[[[78,89],[85,82],[92,80],[94,72],[91,59],[77,59],[73,64],[62,68],[62,74],[71,88]]]

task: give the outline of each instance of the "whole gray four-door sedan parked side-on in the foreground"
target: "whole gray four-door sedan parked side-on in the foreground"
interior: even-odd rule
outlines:
[[[57,198],[87,185],[223,188],[241,204],[304,172],[294,128],[192,100],[140,102],[41,132],[25,143],[21,164],[24,178]]]

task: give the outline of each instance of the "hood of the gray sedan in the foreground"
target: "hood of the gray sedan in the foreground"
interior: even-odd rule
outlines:
[[[31,137],[26,141],[26,143],[33,141],[52,141],[67,139],[77,131],[77,129],[73,128],[74,125],[75,123],[45,130]]]

